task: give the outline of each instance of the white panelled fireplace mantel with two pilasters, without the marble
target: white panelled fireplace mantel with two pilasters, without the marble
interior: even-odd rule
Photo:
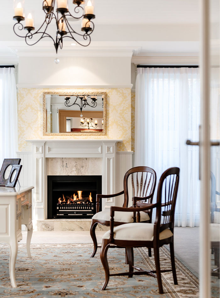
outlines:
[[[32,144],[33,158],[33,217],[34,220],[47,218],[47,185],[45,163],[48,157],[101,157],[102,158],[102,193],[116,192],[116,145],[122,140],[26,140]],[[105,199],[104,208],[115,205],[115,198]]]

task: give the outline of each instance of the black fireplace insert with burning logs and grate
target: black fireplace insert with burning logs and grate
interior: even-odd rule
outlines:
[[[47,176],[47,219],[92,218],[98,193],[102,193],[101,175]]]

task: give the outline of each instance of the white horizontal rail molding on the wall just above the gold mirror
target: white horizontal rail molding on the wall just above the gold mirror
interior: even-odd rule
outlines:
[[[17,84],[17,88],[36,88],[36,89],[85,89],[85,88],[102,88],[102,89],[111,89],[111,88],[132,88],[133,84],[123,84],[123,85],[36,85],[36,84]]]

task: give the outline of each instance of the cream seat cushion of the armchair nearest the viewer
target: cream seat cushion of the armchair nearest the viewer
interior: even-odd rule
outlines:
[[[153,241],[154,224],[132,222],[121,226],[114,227],[115,240],[129,240],[129,241]],[[173,236],[170,229],[160,232],[159,239],[166,239]],[[109,239],[110,231],[107,231],[102,239]]]

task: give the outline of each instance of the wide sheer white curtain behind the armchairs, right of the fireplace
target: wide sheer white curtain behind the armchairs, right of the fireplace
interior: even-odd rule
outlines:
[[[180,168],[178,226],[199,225],[199,149],[185,144],[199,139],[199,123],[198,68],[137,69],[135,166],[153,168],[157,183],[167,168]]]

